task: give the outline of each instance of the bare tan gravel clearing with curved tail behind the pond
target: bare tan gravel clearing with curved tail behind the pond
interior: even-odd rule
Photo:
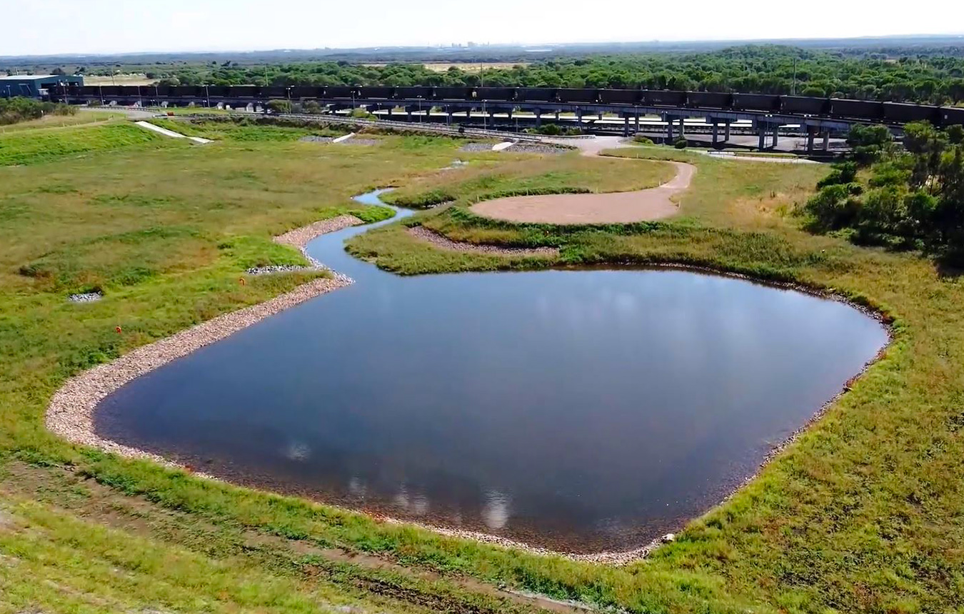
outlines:
[[[676,214],[673,197],[689,187],[696,167],[670,162],[676,176],[666,183],[636,192],[553,194],[510,197],[478,202],[471,211],[487,218],[539,224],[629,224],[660,220]]]

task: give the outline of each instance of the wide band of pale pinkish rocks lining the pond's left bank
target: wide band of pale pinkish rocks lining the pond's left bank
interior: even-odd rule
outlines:
[[[275,237],[275,241],[296,247],[305,254],[305,246],[311,239],[357,224],[362,224],[362,220],[352,215],[342,215],[290,230]],[[305,255],[313,267],[322,268],[321,263],[310,258],[308,254]],[[279,297],[219,315],[186,331],[131,350],[117,360],[95,366],[70,378],[57,390],[47,408],[46,426],[54,434],[74,443],[92,445],[122,456],[147,458],[172,467],[173,463],[156,454],[99,437],[94,431],[94,410],[97,405],[115,390],[149,371],[187,356],[205,345],[216,343],[288,307],[294,307],[352,282],[350,278],[337,273],[331,278],[310,280]]]

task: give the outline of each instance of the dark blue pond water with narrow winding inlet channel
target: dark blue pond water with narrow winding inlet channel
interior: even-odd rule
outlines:
[[[687,271],[399,278],[344,253],[367,228],[309,246],[356,284],[121,388],[98,432],[394,517],[628,549],[715,504],[887,341],[841,303]]]

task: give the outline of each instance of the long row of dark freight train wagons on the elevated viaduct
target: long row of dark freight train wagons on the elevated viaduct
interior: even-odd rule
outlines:
[[[964,124],[964,107],[938,107],[903,102],[849,100],[765,93],[676,92],[668,90],[609,90],[592,88],[469,88],[469,87],[383,87],[383,86],[55,86],[51,99],[67,102],[103,100],[120,104],[187,101],[228,104],[263,103],[271,99],[320,100],[325,102],[378,104],[380,100],[399,104],[429,101],[605,105],[646,109],[684,108],[707,111],[752,112],[814,116],[887,123],[926,120],[935,125]]]

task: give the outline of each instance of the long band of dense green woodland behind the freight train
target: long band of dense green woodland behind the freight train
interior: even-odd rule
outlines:
[[[960,54],[843,52],[784,45],[741,45],[702,53],[646,53],[560,58],[481,71],[420,64],[366,66],[348,62],[262,67],[229,61],[159,74],[180,85],[351,85],[547,88],[643,88],[834,96],[868,100],[964,102]]]

